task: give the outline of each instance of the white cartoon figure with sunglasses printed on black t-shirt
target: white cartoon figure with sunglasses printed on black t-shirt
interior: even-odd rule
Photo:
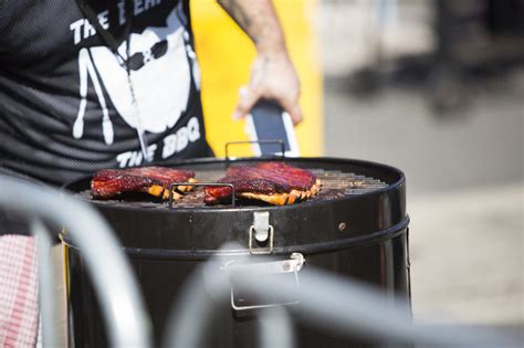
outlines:
[[[102,86],[119,116],[132,128],[139,126],[145,131],[163,133],[175,126],[188,104],[190,70],[196,87],[200,89],[200,70],[186,24],[187,18],[179,4],[168,15],[165,27],[147,27],[139,34],[132,33],[129,40],[118,46],[119,55],[127,60],[129,42],[130,77],[122,59],[108,48],[84,48],[80,51],[81,103],[73,125],[74,138],[82,138],[84,133],[90,82],[99,103],[105,144],[114,143],[114,130]],[[136,105],[133,103],[129,78]]]

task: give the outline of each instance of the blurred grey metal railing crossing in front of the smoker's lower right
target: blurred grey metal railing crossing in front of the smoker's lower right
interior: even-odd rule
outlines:
[[[223,250],[239,249],[239,245],[227,245]],[[289,296],[293,293],[300,300],[298,306],[260,310],[261,346],[293,347],[292,325],[289,314],[300,312],[300,319],[312,326],[365,340],[391,345],[415,345],[416,347],[516,347],[517,344],[494,331],[439,327],[421,323],[415,325],[410,306],[390,297],[374,287],[340,278],[315,267],[306,267],[300,273],[300,287],[290,277],[264,277],[258,270],[260,263],[271,263],[272,259],[235,257],[243,266],[224,268],[224,260],[214,259],[197,270],[185,285],[182,293],[171,312],[168,324],[168,337],[165,347],[200,347],[201,333],[207,331],[213,310],[221,303],[229,300],[232,278],[234,286],[242,287],[245,294],[259,300],[271,300],[275,295]],[[230,261],[227,261],[230,262]],[[226,262],[226,263],[227,263]],[[221,270],[221,272],[218,272]],[[228,271],[229,270],[229,271]],[[289,314],[287,314],[289,313]],[[271,331],[268,330],[271,327]]]

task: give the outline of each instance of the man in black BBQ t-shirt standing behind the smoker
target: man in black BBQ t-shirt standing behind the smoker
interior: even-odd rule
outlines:
[[[300,83],[271,0],[219,3],[259,53],[233,116],[270,98],[298,123]],[[0,0],[0,175],[61,184],[211,154],[189,0]],[[13,283],[0,287],[0,342],[34,346],[34,241],[2,236],[17,232],[6,221],[0,278]]]

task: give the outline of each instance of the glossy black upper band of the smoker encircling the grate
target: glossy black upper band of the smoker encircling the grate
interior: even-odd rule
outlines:
[[[264,160],[264,159],[262,159]],[[249,158],[249,162],[260,162]],[[238,161],[239,162],[239,161]],[[241,161],[245,164],[245,160]],[[161,208],[118,207],[106,203],[93,205],[107,219],[122,245],[132,252],[138,250],[164,251],[212,251],[228,241],[249,245],[250,225],[254,213],[268,211],[270,224],[274,228],[274,251],[292,251],[296,245],[315,251],[334,247],[340,241],[350,245],[360,238],[376,235],[401,224],[408,217],[406,211],[406,178],[392,167],[361,160],[338,158],[290,159],[303,168],[318,168],[327,171],[355,171],[388,183],[384,189],[345,196],[337,199],[322,199],[284,207],[235,207],[235,208],[189,208],[169,210]],[[200,165],[200,167],[198,167]],[[302,166],[301,166],[302,165]],[[177,165],[166,164],[176,168]],[[197,159],[181,161],[179,168],[216,170],[226,168],[220,159]],[[86,182],[76,181],[77,192]],[[85,198],[84,198],[85,199]],[[67,239],[67,236],[64,236]],[[373,238],[371,238],[373,239]],[[333,245],[331,243],[334,243]],[[263,246],[261,243],[259,246]],[[324,245],[324,246],[323,246]],[[205,252],[212,254],[212,252]],[[192,256],[191,256],[192,257]]]

